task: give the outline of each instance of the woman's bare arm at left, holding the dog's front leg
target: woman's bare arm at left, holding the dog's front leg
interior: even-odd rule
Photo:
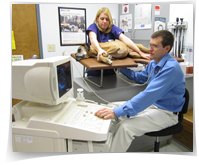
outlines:
[[[102,56],[102,54],[104,53],[107,54],[107,52],[100,48],[99,42],[97,41],[97,35],[95,34],[95,32],[90,31],[89,38],[90,38],[92,47],[98,52],[97,59],[99,60],[99,56]]]

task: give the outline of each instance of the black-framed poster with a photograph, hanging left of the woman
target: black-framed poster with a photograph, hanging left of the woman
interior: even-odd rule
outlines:
[[[58,7],[60,45],[81,45],[86,38],[86,9]]]

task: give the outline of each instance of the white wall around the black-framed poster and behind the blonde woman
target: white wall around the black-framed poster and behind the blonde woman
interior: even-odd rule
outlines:
[[[59,16],[58,7],[74,7],[74,8],[85,8],[86,9],[86,25],[87,27],[93,23],[97,11],[101,7],[108,7],[111,15],[116,19],[118,23],[118,4],[40,4],[40,19],[41,19],[41,35],[42,35],[42,47],[43,57],[60,56],[62,52],[67,52],[68,55],[75,53],[78,46],[60,46],[60,34],[59,34]],[[56,51],[48,52],[47,45],[55,44]],[[73,60],[76,66],[79,68],[81,74],[83,73],[83,66]],[[73,65],[74,77],[80,77],[77,69]]]

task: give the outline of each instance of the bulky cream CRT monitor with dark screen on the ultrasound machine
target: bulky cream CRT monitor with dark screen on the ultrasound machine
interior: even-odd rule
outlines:
[[[12,63],[12,98],[57,105],[72,95],[71,57],[56,56]]]

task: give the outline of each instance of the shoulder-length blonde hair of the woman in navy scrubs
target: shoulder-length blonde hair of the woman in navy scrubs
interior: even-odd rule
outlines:
[[[108,16],[108,19],[109,19],[109,22],[110,22],[110,24],[109,24],[109,26],[108,26],[108,28],[106,29],[105,32],[100,28],[100,26],[99,26],[99,24],[97,22],[97,19],[99,18],[99,16],[100,16],[101,13],[106,14]],[[111,31],[112,24],[113,24],[113,19],[112,19],[111,12],[109,11],[109,9],[106,8],[106,7],[102,7],[101,9],[99,9],[98,12],[97,12],[97,14],[96,14],[96,17],[95,17],[95,20],[94,20],[93,23],[95,23],[97,25],[97,27],[99,28],[99,30],[101,32],[109,33]]]

